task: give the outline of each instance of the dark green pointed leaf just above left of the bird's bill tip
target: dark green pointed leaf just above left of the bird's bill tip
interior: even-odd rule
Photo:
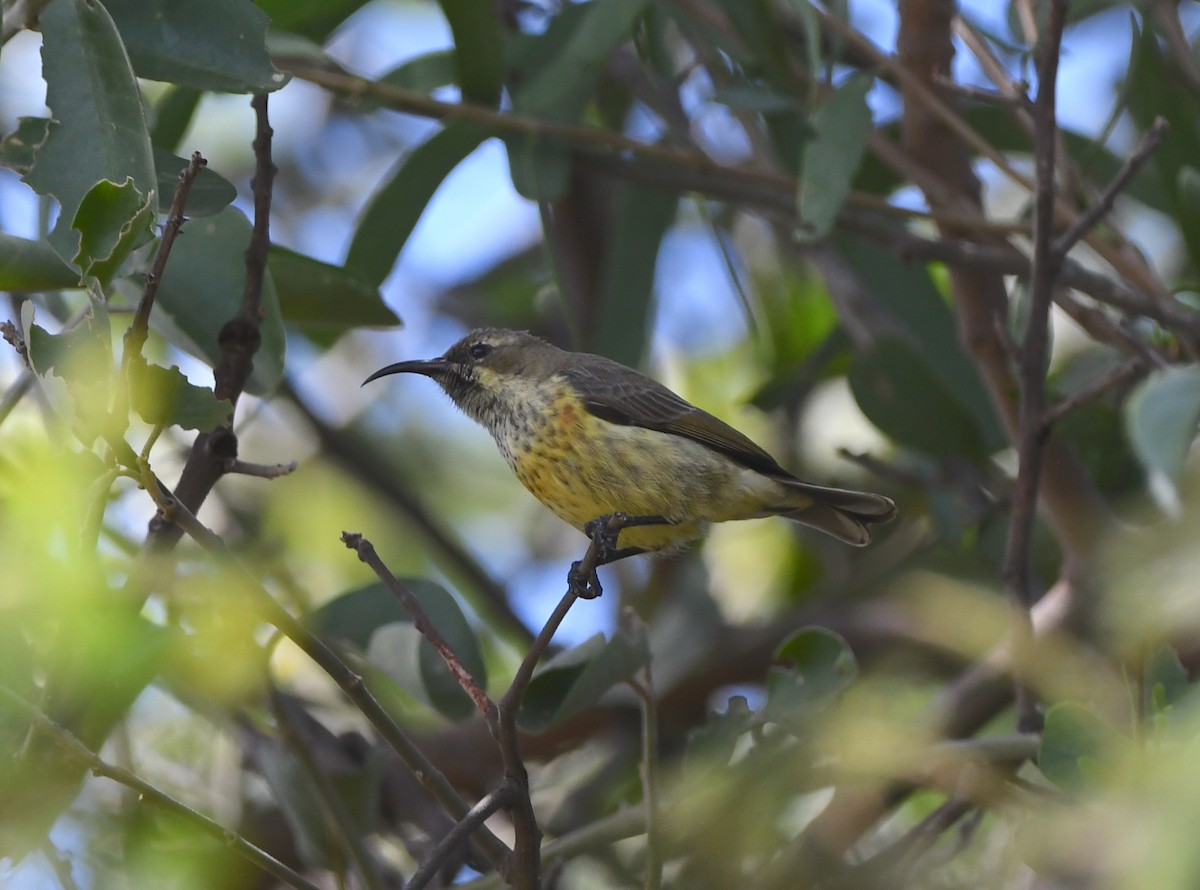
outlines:
[[[271,245],[268,267],[288,324],[338,333],[352,327],[400,324],[379,288],[362,283],[341,266]]]

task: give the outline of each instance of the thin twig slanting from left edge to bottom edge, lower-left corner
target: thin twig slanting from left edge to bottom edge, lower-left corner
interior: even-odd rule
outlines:
[[[74,733],[50,720],[50,717],[48,717],[36,705],[26,702],[7,686],[0,686],[0,698],[4,698],[7,705],[12,706],[22,716],[29,720],[37,732],[44,733],[65,752],[79,758],[80,763],[86,764],[92,775],[102,778],[110,778],[112,781],[130,788],[136,792],[139,801],[149,801],[155,806],[184,819],[188,824],[194,825],[204,834],[215,837],[222,844],[230,847],[235,853],[238,853],[238,855],[242,856],[252,865],[262,868],[264,872],[272,874],[288,886],[298,888],[298,890],[319,890],[316,884],[307,880],[302,874],[293,871],[270,853],[256,847],[233,829],[228,829],[220,823],[214,822],[208,816],[192,810],[192,807],[175,800],[166,792],[160,790],[145,780],[139,778],[124,766],[116,766],[102,759],[100,754],[84,745],[83,741],[74,735]]]

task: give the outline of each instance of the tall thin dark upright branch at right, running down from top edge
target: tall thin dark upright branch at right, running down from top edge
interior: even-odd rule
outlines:
[[[1013,493],[1013,512],[1004,548],[1004,587],[1013,613],[1013,663],[1016,668],[1016,724],[1033,732],[1042,726],[1033,691],[1025,684],[1025,670],[1033,648],[1033,566],[1031,547],[1037,516],[1038,488],[1046,440],[1045,374],[1050,349],[1050,305],[1062,255],[1054,248],[1055,149],[1057,120],[1055,90],[1058,55],[1067,22],[1067,0],[1051,0],[1050,17],[1043,34],[1034,103],[1037,125],[1037,192],[1033,217],[1033,266],[1030,273],[1030,309],[1019,353],[1020,461]]]

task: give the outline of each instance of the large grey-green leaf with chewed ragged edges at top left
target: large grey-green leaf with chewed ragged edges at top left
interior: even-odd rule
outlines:
[[[142,92],[108,12],[98,2],[56,0],[41,23],[42,77],[53,121],[25,181],[61,204],[50,243],[68,258],[78,252],[71,224],[94,185],[132,179],[142,194],[150,194],[157,180]]]

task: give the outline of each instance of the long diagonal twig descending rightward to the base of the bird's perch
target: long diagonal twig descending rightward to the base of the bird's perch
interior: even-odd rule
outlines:
[[[463,818],[469,812],[467,802],[458,795],[458,792],[455,790],[442,771],[425,757],[421,750],[400,728],[386,709],[379,704],[379,700],[366,687],[362,676],[352,670],[302,621],[294,618],[287,609],[280,606],[275,601],[275,597],[259,584],[253,573],[229,552],[228,546],[221,540],[220,535],[208,529],[204,523],[196,518],[194,513],[166,488],[162,488],[160,497],[167,504],[167,510],[164,511],[167,518],[185,530],[202,547],[230,561],[242,577],[246,578],[248,583],[247,589],[252,591],[256,605],[265,620],[295,643],[305,655],[312,659],[337,684],[342,692],[346,693],[346,697],[359,709],[359,712],[376,728],[379,736],[396,752],[404,765],[408,766],[425,790],[445,807],[452,818]],[[488,831],[486,826],[480,829],[480,836],[476,840],[487,861],[503,871],[510,853],[504,842]]]

